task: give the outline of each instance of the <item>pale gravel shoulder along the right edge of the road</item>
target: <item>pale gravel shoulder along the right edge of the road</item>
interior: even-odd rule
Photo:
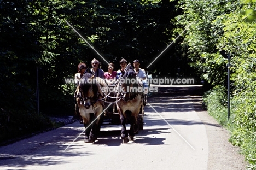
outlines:
[[[246,169],[247,163],[240,154],[240,148],[229,142],[229,131],[219,125],[207,111],[195,110],[206,127],[209,147],[207,169]]]

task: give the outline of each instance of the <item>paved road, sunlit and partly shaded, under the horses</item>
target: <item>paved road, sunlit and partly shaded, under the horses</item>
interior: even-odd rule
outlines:
[[[195,110],[198,89],[159,87],[134,142],[122,144],[121,127],[103,125],[100,138],[85,144],[84,127],[74,122],[1,147],[0,169],[207,169],[206,126]]]

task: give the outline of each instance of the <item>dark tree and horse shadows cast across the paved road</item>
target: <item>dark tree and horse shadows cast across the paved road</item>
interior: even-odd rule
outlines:
[[[200,102],[201,87],[159,87],[159,92],[154,93],[152,97],[148,98],[148,103],[152,104],[154,109],[161,115],[170,114],[171,112],[189,114],[189,112],[194,112],[195,110],[203,110]],[[154,114],[153,116],[147,114],[147,112],[155,112],[148,105],[146,105],[144,110],[146,112],[144,120],[145,122],[148,122],[144,125],[144,130],[139,131],[139,133],[136,134],[135,141],[129,142],[128,144],[165,144],[165,138],[156,138],[154,136],[161,133],[170,133],[171,127],[166,126],[166,122],[160,119],[158,115]],[[150,125],[149,121],[154,122],[154,126]],[[183,119],[166,119],[166,121],[171,125],[191,126],[202,124],[201,121]],[[74,124],[79,123],[74,122]],[[58,159],[62,156],[79,157],[94,154],[90,151],[86,151],[86,148],[90,147],[90,145],[100,145],[103,147],[121,145],[121,128],[120,130],[104,130],[104,128],[102,128],[100,136],[94,144],[85,144],[84,134],[77,138],[84,128],[82,126],[78,127],[74,124],[69,124],[57,130],[24,139],[20,142],[9,145],[8,148],[0,147],[0,165],[6,167],[20,167],[21,169],[22,167],[32,165],[56,165],[67,163],[66,159]],[[218,126],[216,124],[209,125]],[[70,144],[75,138],[77,138],[76,142],[73,143],[67,151],[64,151],[68,144]],[[84,149],[79,151],[81,148]]]

